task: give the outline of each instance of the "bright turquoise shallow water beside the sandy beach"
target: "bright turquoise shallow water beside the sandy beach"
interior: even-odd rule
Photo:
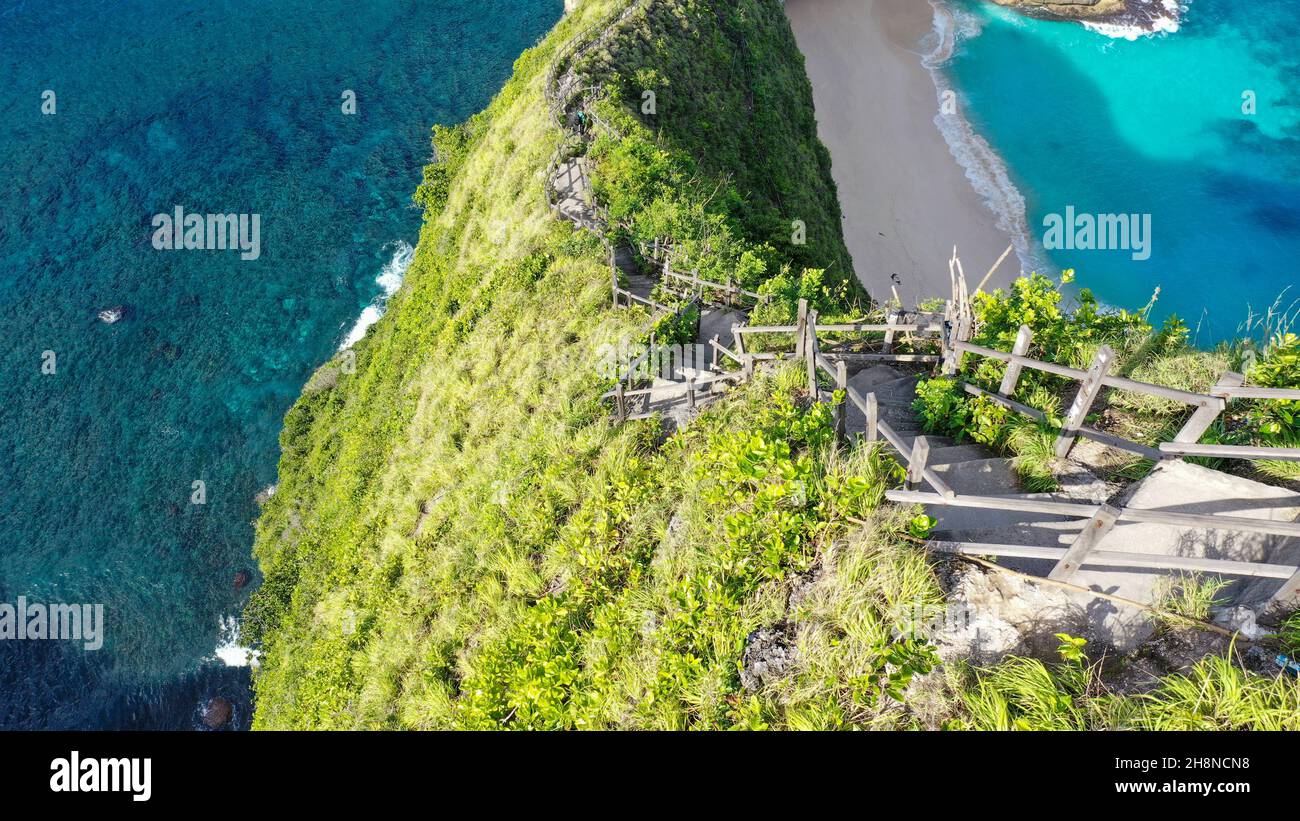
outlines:
[[[1179,31],[1128,42],[956,4],[945,68],[1024,196],[1044,268],[1106,303],[1178,313],[1210,343],[1300,292],[1300,18],[1287,0],[1193,0]],[[1243,110],[1253,95],[1254,112]],[[1150,256],[1044,249],[1044,218],[1150,216]]]

